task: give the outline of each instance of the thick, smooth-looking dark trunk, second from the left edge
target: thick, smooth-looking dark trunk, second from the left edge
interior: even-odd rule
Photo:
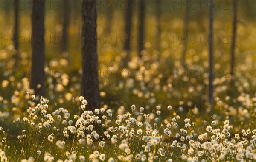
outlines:
[[[44,0],[32,4],[32,67],[30,87],[44,95]]]

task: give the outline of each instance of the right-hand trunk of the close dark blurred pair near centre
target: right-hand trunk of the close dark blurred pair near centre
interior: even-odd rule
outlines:
[[[142,57],[141,51],[144,49],[144,21],[145,21],[145,0],[139,0],[139,35],[138,35],[138,50],[139,57]]]

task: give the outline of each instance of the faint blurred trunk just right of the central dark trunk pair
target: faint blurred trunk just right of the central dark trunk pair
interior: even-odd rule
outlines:
[[[156,22],[157,22],[157,38],[156,38],[156,49],[160,51],[161,43],[161,4],[162,0],[156,0]]]

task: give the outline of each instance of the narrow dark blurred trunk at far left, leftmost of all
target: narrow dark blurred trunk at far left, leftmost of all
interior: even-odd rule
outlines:
[[[15,12],[14,12],[14,31],[13,31],[13,37],[14,37],[14,48],[16,50],[15,54],[13,55],[13,59],[15,60],[14,66],[17,67],[17,61],[18,61],[18,30],[19,30],[19,17],[18,17],[18,0],[15,0]]]

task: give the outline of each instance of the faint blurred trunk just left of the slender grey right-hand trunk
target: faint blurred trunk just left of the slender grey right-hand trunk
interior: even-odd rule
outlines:
[[[188,1],[186,1],[186,4]],[[186,41],[183,42],[183,49],[182,49],[182,63],[183,66],[186,67],[186,49],[188,44],[188,28],[189,28],[189,6],[186,6],[184,23],[183,23],[183,38],[186,38]]]

